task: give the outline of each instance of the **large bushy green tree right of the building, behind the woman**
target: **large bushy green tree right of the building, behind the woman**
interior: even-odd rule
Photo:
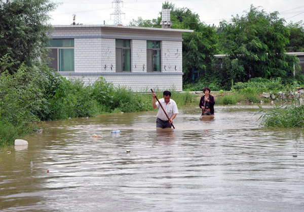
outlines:
[[[267,14],[253,5],[246,15],[220,23],[221,46],[227,56],[221,77],[226,87],[232,80],[285,77],[293,71],[296,58],[285,54],[289,30],[284,23],[278,12]]]

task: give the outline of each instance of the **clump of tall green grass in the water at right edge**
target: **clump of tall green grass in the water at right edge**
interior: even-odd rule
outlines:
[[[281,127],[281,128],[304,128],[304,105],[296,103],[294,100],[291,105],[275,105],[270,111],[264,111],[260,126],[262,127]]]

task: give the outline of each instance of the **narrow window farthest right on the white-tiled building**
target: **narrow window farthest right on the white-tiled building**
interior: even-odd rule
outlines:
[[[160,41],[147,40],[147,72],[161,71]]]

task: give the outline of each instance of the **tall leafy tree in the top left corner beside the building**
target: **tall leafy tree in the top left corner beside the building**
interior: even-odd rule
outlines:
[[[11,74],[21,64],[33,66],[44,60],[51,30],[49,12],[55,7],[49,0],[0,1],[0,58],[7,57]]]

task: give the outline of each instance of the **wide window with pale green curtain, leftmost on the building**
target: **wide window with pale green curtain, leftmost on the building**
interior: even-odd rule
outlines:
[[[49,67],[55,71],[74,71],[74,39],[52,39],[48,48]]]

